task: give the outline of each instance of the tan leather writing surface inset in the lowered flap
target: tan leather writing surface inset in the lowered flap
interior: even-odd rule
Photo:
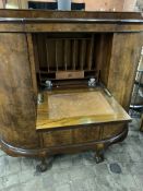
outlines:
[[[53,94],[48,96],[49,119],[114,115],[100,92]]]

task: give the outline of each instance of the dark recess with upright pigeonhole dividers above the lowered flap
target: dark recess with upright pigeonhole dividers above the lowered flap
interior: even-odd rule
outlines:
[[[33,34],[38,84],[46,80],[88,80],[106,84],[111,53],[110,33]]]

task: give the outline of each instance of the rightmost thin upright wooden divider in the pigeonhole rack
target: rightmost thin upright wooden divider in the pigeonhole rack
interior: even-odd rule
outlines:
[[[87,46],[87,70],[92,69],[93,49],[94,49],[94,35],[90,39],[88,46]]]

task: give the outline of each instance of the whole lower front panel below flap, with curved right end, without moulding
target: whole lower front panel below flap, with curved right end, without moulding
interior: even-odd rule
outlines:
[[[124,124],[104,124],[43,133],[44,146],[65,146],[114,138],[121,133]]]

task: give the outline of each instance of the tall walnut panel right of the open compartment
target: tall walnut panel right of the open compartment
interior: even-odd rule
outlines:
[[[141,33],[115,33],[107,87],[128,110],[143,36]]]

